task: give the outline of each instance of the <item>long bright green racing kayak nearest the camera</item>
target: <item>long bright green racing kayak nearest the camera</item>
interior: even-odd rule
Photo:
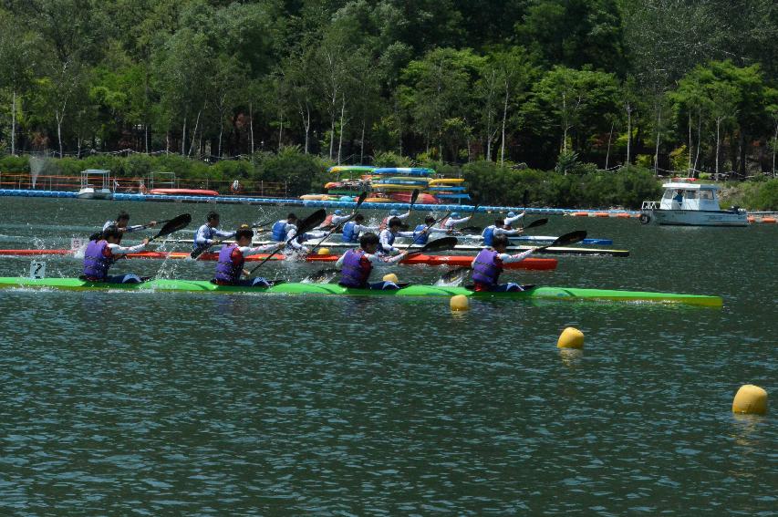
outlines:
[[[472,298],[511,298],[518,300],[595,300],[609,302],[653,302],[662,304],[702,305],[721,307],[721,297],[706,295],[677,295],[674,293],[647,293],[640,291],[613,291],[608,289],[578,289],[576,287],[532,287],[518,293],[475,293],[464,287],[409,285],[399,291],[371,291],[351,289],[337,284],[275,284],[272,287],[240,287],[215,285],[203,280],[150,280],[143,284],[103,284],[78,278],[0,277],[0,288],[64,289],[71,291],[186,291],[193,293],[273,293],[283,295],[368,295],[368,296],[453,296]]]

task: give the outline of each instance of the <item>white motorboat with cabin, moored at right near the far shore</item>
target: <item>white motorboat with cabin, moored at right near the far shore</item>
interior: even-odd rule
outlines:
[[[736,206],[721,210],[719,187],[686,181],[662,185],[661,201],[643,202],[640,222],[673,226],[748,226],[748,214]]]

